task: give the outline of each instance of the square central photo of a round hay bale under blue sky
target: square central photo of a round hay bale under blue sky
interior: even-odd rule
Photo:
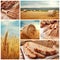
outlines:
[[[21,20],[20,28],[21,39],[40,39],[39,20]]]

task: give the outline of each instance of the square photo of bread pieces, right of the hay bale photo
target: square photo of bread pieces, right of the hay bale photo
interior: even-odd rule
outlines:
[[[43,19],[40,23],[41,39],[59,39],[59,20]]]

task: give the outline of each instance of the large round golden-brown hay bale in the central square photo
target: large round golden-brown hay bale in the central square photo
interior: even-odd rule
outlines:
[[[30,25],[27,25],[23,28],[22,32],[26,35],[26,36],[29,36],[29,37],[32,37],[34,35],[36,31],[36,28],[34,25],[30,24]]]

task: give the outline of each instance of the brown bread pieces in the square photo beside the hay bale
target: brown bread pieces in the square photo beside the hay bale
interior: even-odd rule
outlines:
[[[42,21],[41,28],[44,28],[43,33],[45,38],[56,39],[59,38],[59,21]]]

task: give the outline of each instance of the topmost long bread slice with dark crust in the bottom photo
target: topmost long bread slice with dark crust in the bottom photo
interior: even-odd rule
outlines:
[[[47,56],[47,55],[56,54],[56,50],[53,49],[53,48],[49,48],[49,47],[39,45],[39,44],[36,44],[36,43],[33,43],[33,42],[28,42],[26,44],[27,44],[27,45],[25,45],[26,47],[34,49],[35,52],[38,52],[38,53],[40,53],[42,55]]]

